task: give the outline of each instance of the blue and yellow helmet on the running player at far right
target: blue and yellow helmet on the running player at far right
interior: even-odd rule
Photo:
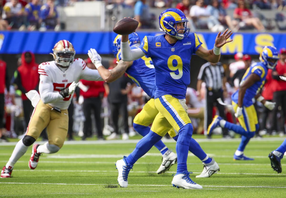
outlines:
[[[265,46],[263,47],[259,60],[269,69],[274,69],[279,60],[278,51],[274,46]]]

